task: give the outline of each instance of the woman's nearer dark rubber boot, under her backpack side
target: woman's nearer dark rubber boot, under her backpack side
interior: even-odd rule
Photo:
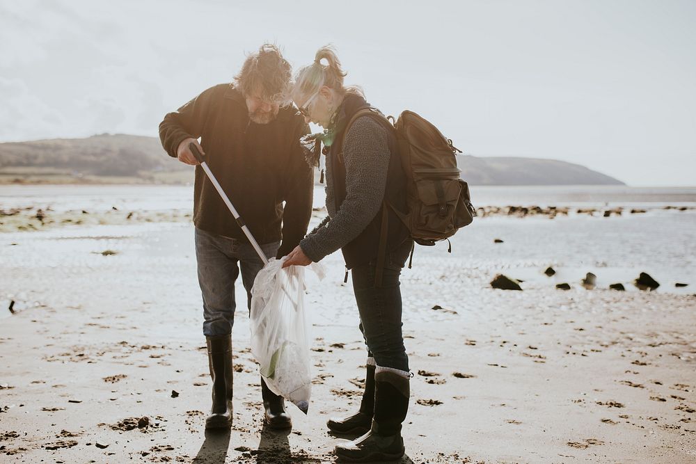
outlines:
[[[370,431],[336,445],[341,461],[394,461],[404,456],[401,424],[409,410],[410,378],[390,371],[374,375],[374,417]]]

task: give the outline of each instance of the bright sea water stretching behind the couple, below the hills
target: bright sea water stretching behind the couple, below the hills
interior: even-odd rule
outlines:
[[[599,289],[622,283],[626,291],[640,291],[633,280],[645,272],[660,282],[658,293],[696,294],[696,187],[470,186],[470,192],[475,207],[555,206],[568,207],[571,214],[475,218],[452,237],[450,244],[418,246],[413,270],[404,270],[404,280],[424,281],[435,271],[447,270],[442,271],[441,279],[454,279],[456,285],[473,285],[485,291],[490,288],[491,277],[503,273],[522,280],[525,290],[555,291],[555,284],[560,282],[579,288],[589,272],[596,275]],[[324,200],[324,186],[317,185],[313,223],[326,214]],[[98,213],[116,207],[187,212],[192,203],[192,186],[0,186],[3,210],[34,207]],[[621,215],[601,214],[618,207],[623,208]],[[587,208],[599,212],[593,216],[576,214],[577,209]],[[631,209],[645,212],[631,214]],[[107,247],[125,250],[119,259],[127,259],[128,253],[139,254],[142,259],[186,253],[189,261],[185,265],[195,273],[192,230],[190,223],[180,222],[0,232],[0,303],[23,301],[17,289],[4,288],[6,280],[16,285],[16,279],[9,279],[11,275],[31,275],[31,269],[78,272],[84,266],[101,266],[101,255],[96,252]],[[13,246],[15,243],[22,246]],[[450,245],[452,253],[448,253]],[[331,280],[342,282],[345,268],[340,253],[327,257],[324,264]],[[549,266],[556,271],[553,278],[544,274]],[[32,304],[32,298],[48,300],[49,290],[24,298],[26,304]],[[0,307],[0,317],[5,313]]]

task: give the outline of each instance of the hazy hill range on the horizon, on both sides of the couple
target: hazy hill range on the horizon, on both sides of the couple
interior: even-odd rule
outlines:
[[[622,184],[551,159],[460,155],[457,161],[472,185]],[[186,183],[193,180],[191,170],[168,157],[155,137],[101,134],[0,143],[0,183]]]

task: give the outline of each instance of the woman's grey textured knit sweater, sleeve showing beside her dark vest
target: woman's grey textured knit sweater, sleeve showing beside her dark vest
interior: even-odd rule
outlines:
[[[333,166],[331,159],[326,157],[329,216],[300,241],[300,248],[313,262],[356,239],[377,216],[386,189],[389,155],[386,129],[370,116],[356,119],[343,142],[346,198],[338,211],[334,207]]]

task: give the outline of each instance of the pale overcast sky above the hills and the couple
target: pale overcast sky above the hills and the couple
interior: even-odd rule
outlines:
[[[372,104],[467,154],[696,185],[689,0],[0,0],[0,141],[157,136],[264,41],[294,67],[333,44]]]

